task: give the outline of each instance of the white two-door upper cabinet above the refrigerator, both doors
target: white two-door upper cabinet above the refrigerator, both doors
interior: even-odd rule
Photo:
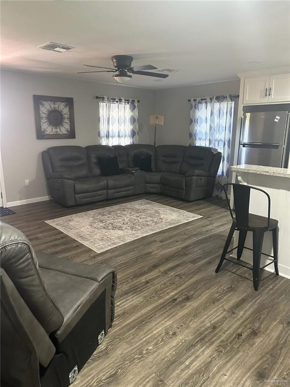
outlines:
[[[290,102],[290,74],[246,78],[243,103]]]

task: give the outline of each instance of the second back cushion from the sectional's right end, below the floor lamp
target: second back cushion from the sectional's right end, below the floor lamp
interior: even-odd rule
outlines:
[[[159,145],[156,148],[156,167],[160,172],[178,173],[186,147],[184,145]]]

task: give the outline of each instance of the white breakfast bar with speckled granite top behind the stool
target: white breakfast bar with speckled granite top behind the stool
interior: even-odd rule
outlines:
[[[278,267],[283,277],[290,278],[290,168],[275,168],[260,165],[235,165],[231,170],[237,174],[240,184],[248,184],[266,191],[271,198],[271,218],[279,222]],[[232,199],[232,198],[231,198]],[[232,200],[231,200],[232,206]],[[267,216],[268,201],[262,192],[252,190],[250,213]],[[245,246],[252,248],[252,233],[248,232]],[[234,246],[238,244],[238,232],[235,234]],[[235,251],[235,250],[234,250]],[[272,235],[265,233],[263,252],[273,254]],[[233,256],[235,256],[233,254]],[[252,251],[244,249],[243,261],[252,263]],[[270,261],[262,255],[261,266]],[[273,265],[266,268],[274,271]]]

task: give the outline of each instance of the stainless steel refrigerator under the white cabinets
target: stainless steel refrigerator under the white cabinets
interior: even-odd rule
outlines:
[[[286,168],[288,164],[287,111],[244,112],[239,164]],[[288,140],[287,140],[288,139]]]

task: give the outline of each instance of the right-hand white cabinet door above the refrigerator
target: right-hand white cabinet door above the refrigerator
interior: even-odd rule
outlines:
[[[272,75],[269,83],[269,102],[290,101],[290,74]]]

